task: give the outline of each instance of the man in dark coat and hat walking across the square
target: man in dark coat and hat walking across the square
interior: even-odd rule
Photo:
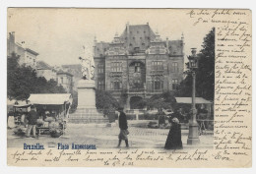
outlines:
[[[118,142],[117,147],[120,147],[123,140],[125,141],[126,147],[129,147],[128,137],[127,137],[127,135],[129,134],[129,131],[128,131],[128,126],[127,126],[126,115],[123,112],[122,107],[119,107],[117,109],[117,112],[118,112],[118,123],[119,123],[119,128],[120,128],[120,134],[118,135],[119,142]]]

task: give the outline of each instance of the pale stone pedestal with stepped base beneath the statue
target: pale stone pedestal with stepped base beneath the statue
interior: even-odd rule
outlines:
[[[69,122],[84,124],[109,123],[107,116],[96,110],[96,85],[92,80],[80,80],[78,83],[78,107],[70,114]]]

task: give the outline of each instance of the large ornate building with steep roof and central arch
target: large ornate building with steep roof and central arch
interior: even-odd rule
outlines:
[[[125,100],[126,109],[136,109],[136,101],[177,88],[183,79],[183,47],[183,35],[162,40],[149,24],[127,24],[110,43],[95,39],[96,88]]]

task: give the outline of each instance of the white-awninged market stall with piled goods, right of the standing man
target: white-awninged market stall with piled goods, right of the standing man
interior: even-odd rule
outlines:
[[[28,100],[39,115],[36,127],[38,136],[49,133],[57,138],[64,134],[72,105],[70,93],[32,93]]]

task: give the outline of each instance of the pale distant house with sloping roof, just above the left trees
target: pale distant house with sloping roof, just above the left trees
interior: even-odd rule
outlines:
[[[44,77],[47,81],[57,80],[57,71],[43,61],[38,61],[36,65],[37,77]]]

